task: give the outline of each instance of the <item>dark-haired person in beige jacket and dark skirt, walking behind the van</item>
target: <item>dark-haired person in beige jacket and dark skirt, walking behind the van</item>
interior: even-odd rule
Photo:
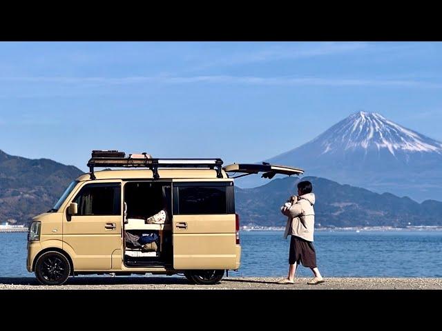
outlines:
[[[309,285],[323,283],[318,266],[316,265],[316,250],[313,245],[315,212],[315,194],[311,191],[313,186],[309,181],[298,183],[298,197],[292,196],[285,205],[282,205],[281,212],[285,214],[287,225],[285,228],[285,238],[291,235],[289,248],[289,275],[287,279],[282,279],[278,283],[294,283],[296,268],[299,263],[310,268],[314,274],[314,279],[307,282]]]

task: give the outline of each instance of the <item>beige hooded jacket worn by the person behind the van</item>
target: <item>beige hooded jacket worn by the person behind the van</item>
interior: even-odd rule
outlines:
[[[296,203],[286,204],[281,207],[282,214],[288,217],[284,238],[287,239],[289,234],[291,234],[307,241],[313,241],[315,224],[314,203],[315,194],[308,193],[298,197]]]

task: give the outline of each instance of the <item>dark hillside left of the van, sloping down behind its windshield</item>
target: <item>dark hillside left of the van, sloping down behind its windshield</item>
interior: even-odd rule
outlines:
[[[13,157],[0,150],[0,222],[29,223],[52,208],[68,183],[81,173],[72,165]]]

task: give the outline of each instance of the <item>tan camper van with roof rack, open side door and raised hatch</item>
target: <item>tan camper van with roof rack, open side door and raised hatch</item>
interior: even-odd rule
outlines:
[[[93,151],[88,167],[30,225],[27,269],[43,284],[77,274],[146,273],[218,283],[240,267],[233,179],[302,174],[269,163],[223,168],[221,159],[126,157],[114,150]]]

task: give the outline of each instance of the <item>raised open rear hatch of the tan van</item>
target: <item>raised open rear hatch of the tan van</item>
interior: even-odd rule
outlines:
[[[249,174],[258,174],[262,172],[263,178],[272,179],[276,174],[287,174],[291,176],[292,174],[303,174],[304,170],[298,168],[287,167],[287,165],[276,165],[270,164],[267,162],[262,162],[261,164],[257,163],[233,163],[226,165],[222,168],[225,172],[229,173],[241,173],[239,176],[232,177],[238,178],[247,176]]]

